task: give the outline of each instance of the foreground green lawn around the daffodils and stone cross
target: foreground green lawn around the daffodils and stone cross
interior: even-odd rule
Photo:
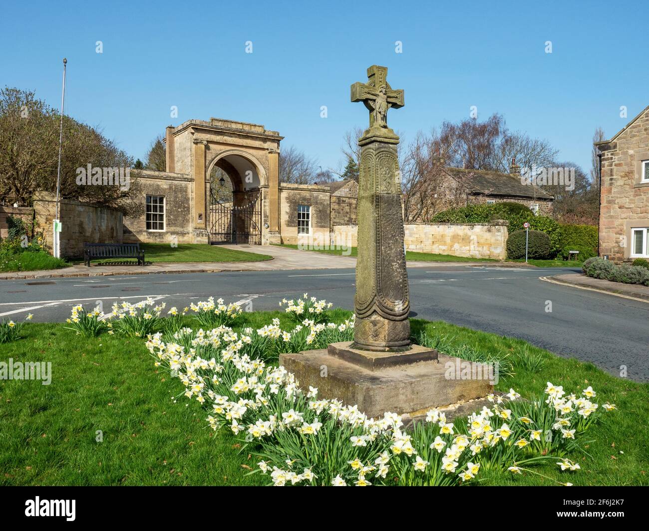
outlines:
[[[337,310],[337,322],[349,316]],[[279,312],[243,314],[238,326],[260,327]],[[513,338],[445,322],[411,320],[413,334],[441,336],[445,345],[470,348],[513,364],[515,375],[498,390],[539,395],[546,381],[580,392],[592,385],[596,401],[615,403],[570,456],[582,470],[560,473],[554,464],[534,470],[575,485],[646,485],[649,384],[608,375],[591,363],[565,359]],[[0,345],[0,360],[52,362],[49,386],[0,381],[0,485],[243,485],[265,484],[247,475],[254,458],[241,453],[226,429],[209,429],[206,412],[184,397],[182,384],[153,366],[144,342],[104,335],[86,339],[60,324],[26,324],[23,338]],[[523,358],[540,358],[532,367]],[[530,369],[526,369],[530,367]],[[97,442],[97,430],[103,442]],[[480,472],[479,484],[553,484],[538,475]]]

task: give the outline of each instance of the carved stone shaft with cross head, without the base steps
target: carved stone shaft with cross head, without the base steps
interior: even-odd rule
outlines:
[[[356,325],[352,348],[410,349],[410,296],[404,255],[404,224],[398,168],[399,137],[387,126],[390,107],[404,105],[404,92],[387,84],[387,68],[367,69],[367,84],[354,83],[352,102],[371,111],[370,127],[359,139],[358,261]]]

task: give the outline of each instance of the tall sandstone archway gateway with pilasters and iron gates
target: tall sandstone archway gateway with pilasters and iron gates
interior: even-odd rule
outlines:
[[[189,176],[191,241],[280,242],[278,164],[281,137],[263,125],[212,118],[166,130],[167,174]],[[232,183],[232,200],[217,199],[215,169]]]

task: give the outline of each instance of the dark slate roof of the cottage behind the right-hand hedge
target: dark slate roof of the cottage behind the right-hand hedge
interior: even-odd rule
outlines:
[[[465,183],[469,193],[473,195],[554,199],[553,195],[548,194],[541,187],[522,184],[518,175],[463,168],[445,168],[445,171],[459,182]]]

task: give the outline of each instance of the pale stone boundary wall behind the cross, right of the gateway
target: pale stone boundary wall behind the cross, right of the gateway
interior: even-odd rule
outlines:
[[[507,257],[508,224],[478,223],[407,223],[404,224],[406,250],[450,254],[467,258]],[[332,234],[337,244],[341,242],[356,247],[356,225],[334,226]]]

